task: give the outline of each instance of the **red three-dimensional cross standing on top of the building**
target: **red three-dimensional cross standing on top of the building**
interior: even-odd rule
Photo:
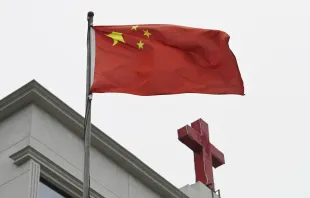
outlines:
[[[199,119],[178,130],[179,140],[194,152],[196,182],[200,181],[214,190],[213,170],[225,164],[224,154],[209,140],[208,124]]]

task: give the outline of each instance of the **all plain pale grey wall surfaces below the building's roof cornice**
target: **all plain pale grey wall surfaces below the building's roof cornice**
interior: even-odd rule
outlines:
[[[27,145],[76,178],[83,179],[83,140],[39,107],[29,105],[0,124],[1,198],[15,197],[4,196],[8,193],[22,194],[22,190],[12,191],[15,185],[24,184],[25,190],[29,188],[27,171],[31,169],[31,164],[17,167],[9,158]],[[108,198],[159,198],[94,148],[91,149],[91,187]]]

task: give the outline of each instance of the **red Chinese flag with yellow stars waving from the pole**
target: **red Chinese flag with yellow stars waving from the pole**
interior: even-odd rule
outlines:
[[[244,95],[229,35],[176,25],[94,26],[92,93]]]

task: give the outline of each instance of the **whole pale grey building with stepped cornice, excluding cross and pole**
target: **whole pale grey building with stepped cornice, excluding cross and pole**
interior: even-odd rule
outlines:
[[[31,81],[0,101],[0,198],[80,198],[84,119]],[[92,126],[92,198],[218,198],[176,188]]]

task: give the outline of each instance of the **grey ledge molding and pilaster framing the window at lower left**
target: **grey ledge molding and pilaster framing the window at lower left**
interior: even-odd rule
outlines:
[[[21,166],[31,160],[31,196],[37,198],[40,177],[46,179],[55,187],[61,189],[74,198],[80,198],[83,194],[83,183],[62,169],[60,166],[42,155],[31,146],[26,146],[10,156],[16,166]],[[91,189],[91,198],[105,198]]]

